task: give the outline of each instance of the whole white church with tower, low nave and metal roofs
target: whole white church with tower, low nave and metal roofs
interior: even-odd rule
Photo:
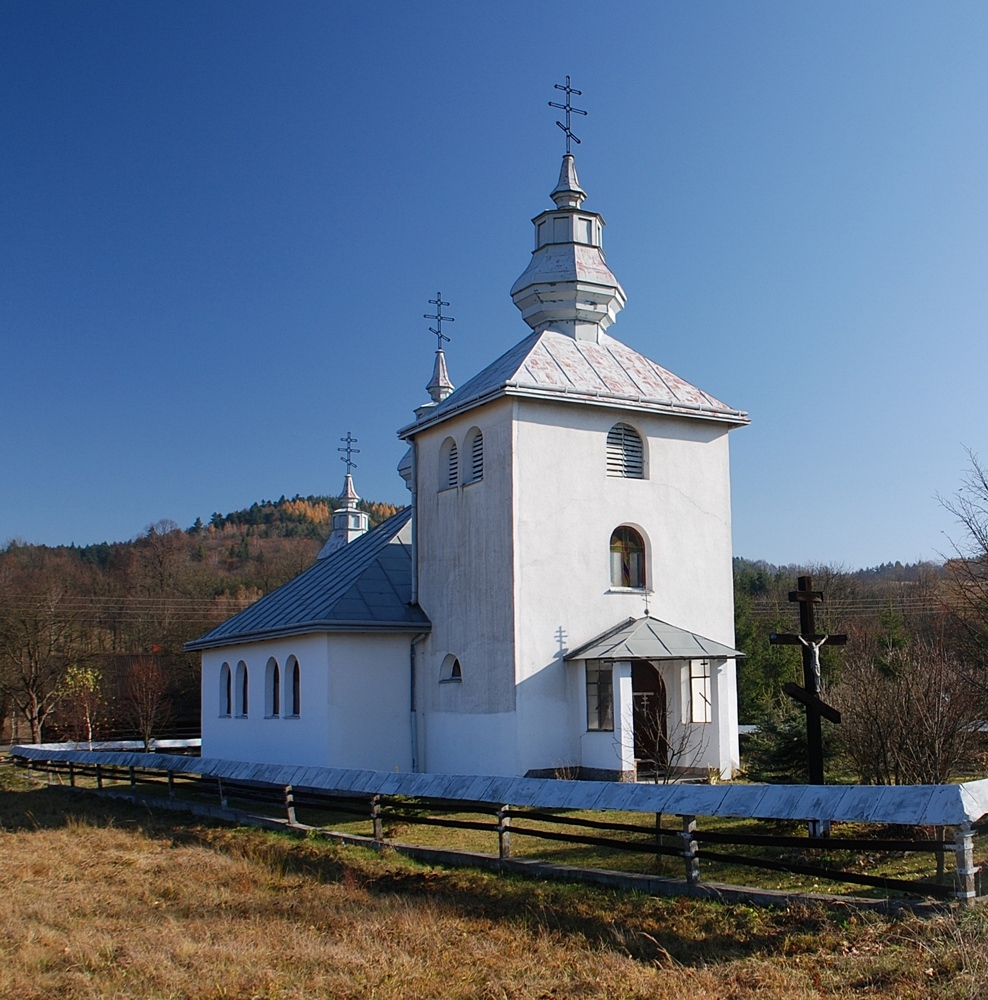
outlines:
[[[316,563],[188,644],[204,756],[738,766],[728,432],[748,417],[610,335],[625,294],[586,197],[567,153],[511,288],[524,339],[455,390],[440,339],[398,432],[409,505],[368,531],[348,473]]]

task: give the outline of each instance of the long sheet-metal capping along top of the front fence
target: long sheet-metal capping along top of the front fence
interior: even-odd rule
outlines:
[[[65,743],[15,746],[11,755],[35,761],[74,761],[137,767],[231,781],[350,795],[489,802],[542,809],[611,809],[677,816],[900,823],[958,826],[988,815],[988,780],[959,785],[644,785],[497,775],[411,774],[97,751]]]

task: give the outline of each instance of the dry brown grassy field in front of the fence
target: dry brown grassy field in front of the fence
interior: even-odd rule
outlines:
[[[418,865],[0,766],[0,997],[988,998],[988,918]]]

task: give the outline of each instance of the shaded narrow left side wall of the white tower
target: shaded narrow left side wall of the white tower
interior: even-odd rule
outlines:
[[[484,435],[484,475],[463,485],[467,435],[474,427]],[[447,437],[459,449],[461,485],[440,489]],[[481,772],[514,774],[510,403],[494,402],[423,431],[415,449],[419,604],[432,621],[416,663],[419,769],[463,773],[462,753],[475,746],[483,750]],[[440,684],[449,654],[460,661],[459,684]],[[449,719],[438,717],[458,715],[469,717],[466,735],[453,739]],[[483,740],[471,743],[474,732]]]

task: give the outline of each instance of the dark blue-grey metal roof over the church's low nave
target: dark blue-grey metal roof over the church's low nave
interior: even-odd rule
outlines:
[[[427,632],[425,612],[411,599],[410,507],[318,560],[283,587],[187,650],[306,632]]]

